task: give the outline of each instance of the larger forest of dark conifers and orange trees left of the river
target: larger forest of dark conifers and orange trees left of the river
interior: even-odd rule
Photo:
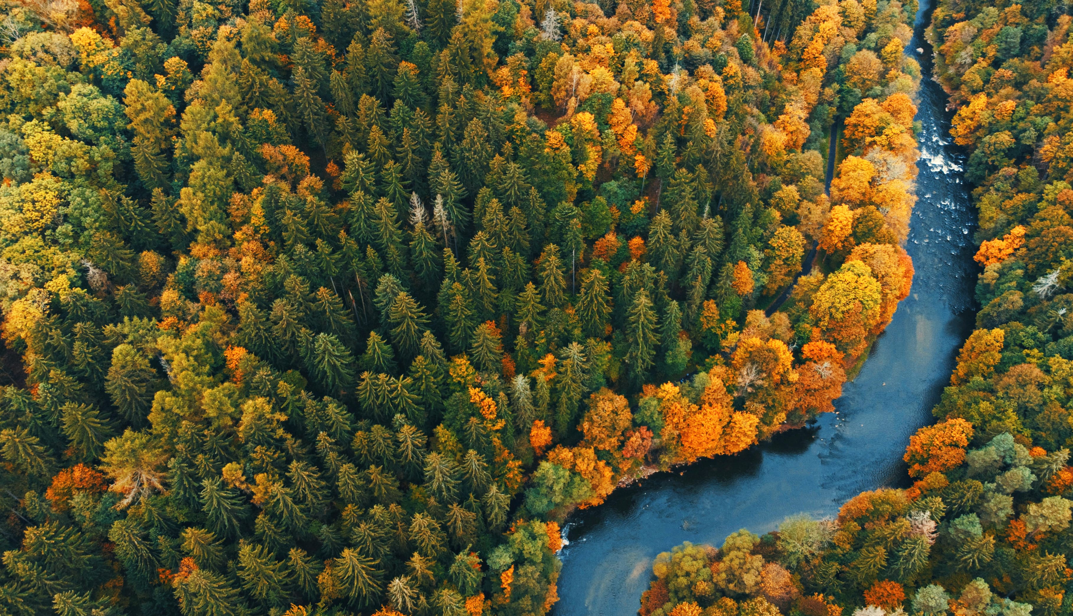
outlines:
[[[2,616],[543,615],[909,292],[915,1],[0,11]]]

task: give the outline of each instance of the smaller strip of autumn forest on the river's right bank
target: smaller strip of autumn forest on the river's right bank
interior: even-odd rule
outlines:
[[[642,616],[1073,612],[1073,42],[1055,2],[942,0],[928,37],[979,214],[975,330],[911,486],[657,558]]]

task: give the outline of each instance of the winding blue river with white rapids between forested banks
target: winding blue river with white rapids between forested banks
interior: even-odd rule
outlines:
[[[976,273],[964,161],[951,145],[946,96],[928,78],[931,48],[923,30],[929,3],[922,2],[907,47],[925,71],[916,115],[923,124],[918,200],[906,246],[916,270],[911,295],[843,388],[835,414],[736,456],[653,476],[573,515],[555,616],[634,614],[662,551],[684,541],[720,545],[739,528],[766,532],[795,513],[834,515],[858,492],[906,481],[901,454],[909,436],[931,421],[972,329]]]

